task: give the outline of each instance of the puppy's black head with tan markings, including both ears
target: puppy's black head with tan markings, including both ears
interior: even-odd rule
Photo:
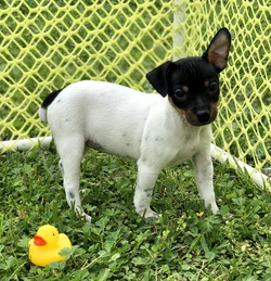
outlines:
[[[146,75],[149,81],[194,126],[210,124],[217,117],[218,74],[227,66],[231,36],[221,28],[202,56],[166,62]]]

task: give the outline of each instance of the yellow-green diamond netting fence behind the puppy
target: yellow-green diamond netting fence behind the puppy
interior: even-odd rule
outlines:
[[[258,170],[271,164],[271,7],[266,0],[0,1],[0,150],[50,136],[38,118],[51,91],[95,79],[153,91],[145,74],[198,55],[222,26],[233,42],[221,74],[214,143]]]

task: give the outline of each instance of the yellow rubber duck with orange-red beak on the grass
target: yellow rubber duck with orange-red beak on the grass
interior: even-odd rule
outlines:
[[[59,233],[57,229],[50,225],[40,227],[28,245],[30,261],[40,267],[65,260],[65,257],[59,253],[64,247],[72,248],[68,237],[64,233]]]

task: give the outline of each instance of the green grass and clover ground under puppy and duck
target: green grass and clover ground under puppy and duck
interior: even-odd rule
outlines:
[[[53,148],[0,155],[1,280],[270,280],[271,196],[246,176],[215,164],[221,207],[203,207],[189,163],[159,176],[157,221],[132,206],[136,164],[98,152],[83,161],[83,206],[67,207]],[[28,260],[27,242],[43,223],[65,232],[69,258],[46,268]]]

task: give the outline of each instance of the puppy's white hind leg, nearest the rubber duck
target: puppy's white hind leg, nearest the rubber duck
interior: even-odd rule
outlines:
[[[57,145],[56,143],[56,148],[61,156],[60,168],[63,175],[67,203],[78,215],[86,217],[86,220],[90,222],[91,217],[82,210],[79,195],[80,163],[85,154],[85,142],[74,138],[68,141],[68,138],[66,138],[65,144]]]

